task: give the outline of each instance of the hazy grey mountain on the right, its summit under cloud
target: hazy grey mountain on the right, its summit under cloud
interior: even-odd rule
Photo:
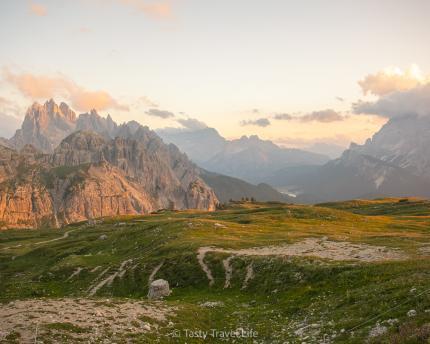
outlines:
[[[278,171],[268,180],[306,202],[430,197],[430,118],[390,119],[365,144],[351,144],[340,158],[323,166]]]

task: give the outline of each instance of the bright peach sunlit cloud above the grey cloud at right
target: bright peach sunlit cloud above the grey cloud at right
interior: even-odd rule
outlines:
[[[369,74],[360,80],[363,93],[383,96],[394,91],[405,91],[412,89],[428,81],[417,65],[411,65],[406,70],[398,67],[388,67],[375,74]]]

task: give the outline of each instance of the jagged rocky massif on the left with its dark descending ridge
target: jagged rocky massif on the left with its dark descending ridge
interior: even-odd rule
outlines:
[[[34,103],[15,135],[0,141],[0,228],[210,211],[242,197],[288,200],[268,185],[204,171],[137,122],[118,125],[95,110],[77,116],[53,100]]]

